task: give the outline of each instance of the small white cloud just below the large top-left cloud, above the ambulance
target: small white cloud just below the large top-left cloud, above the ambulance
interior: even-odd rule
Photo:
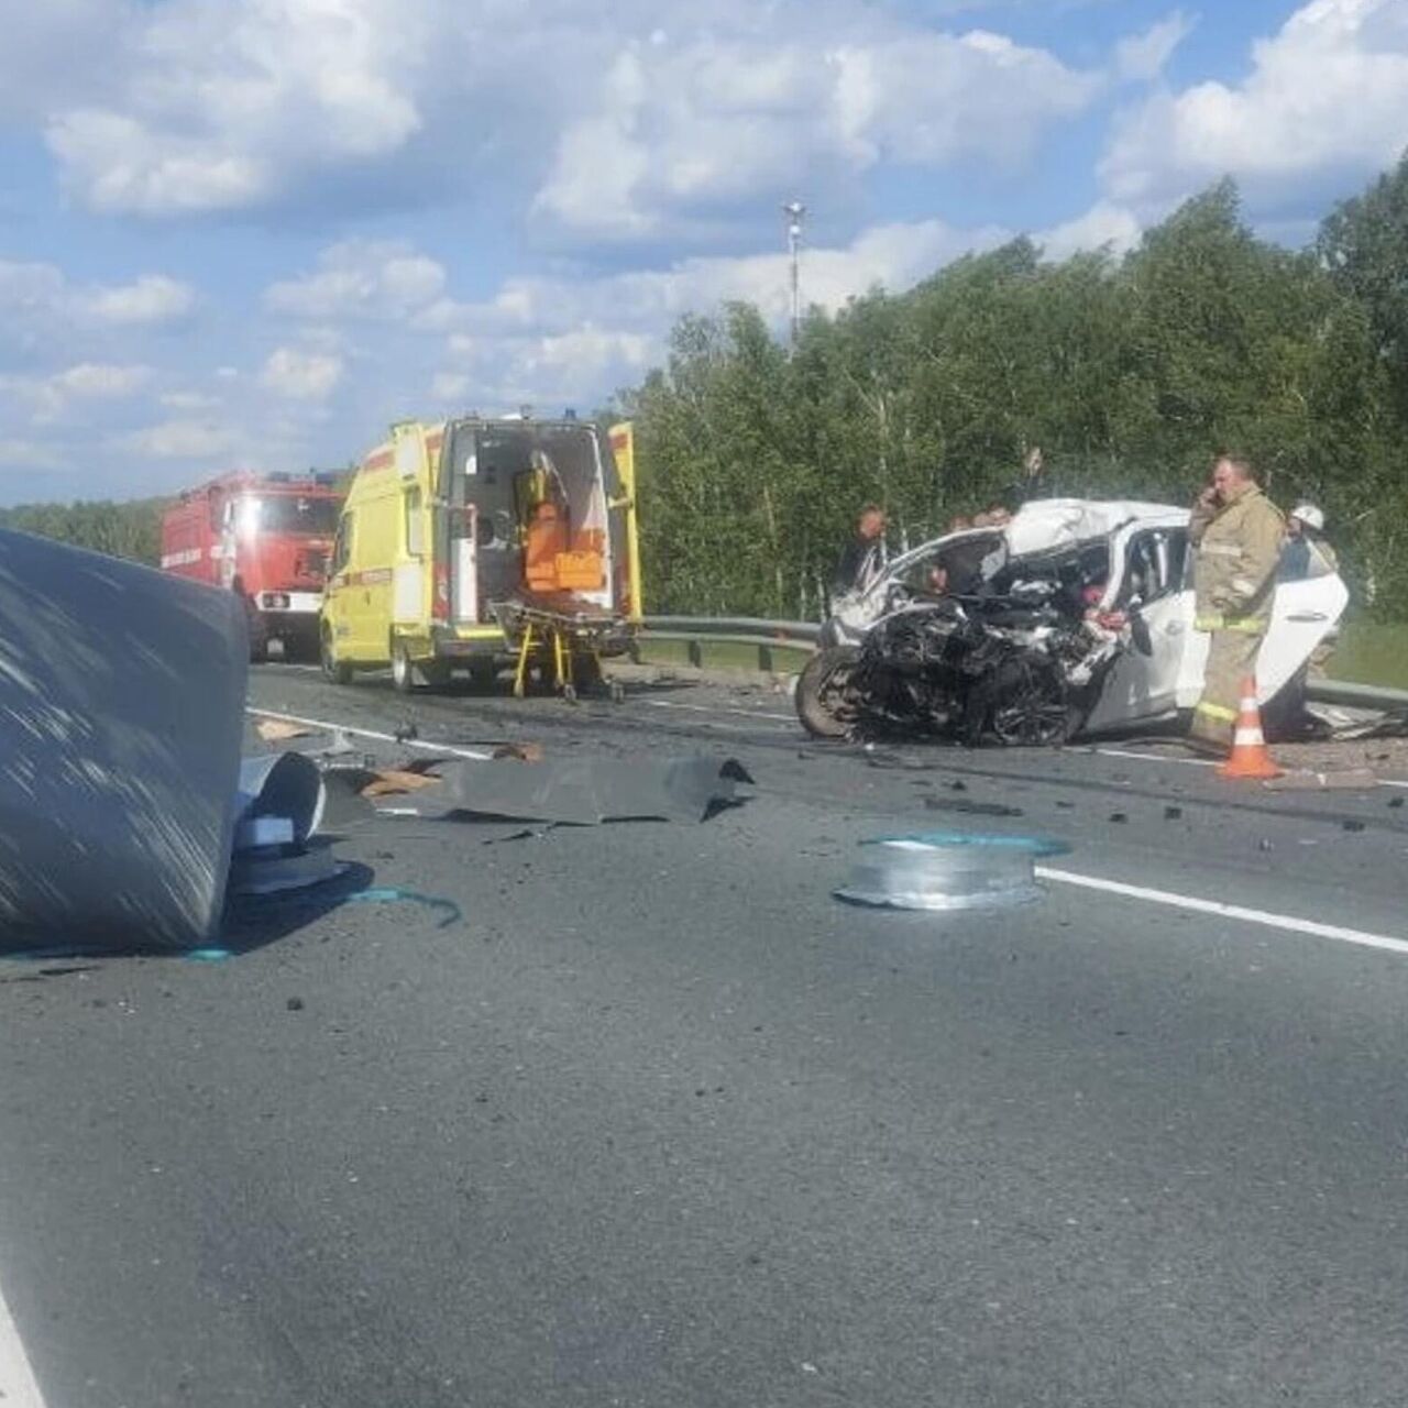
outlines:
[[[325,249],[318,272],[270,284],[270,313],[298,318],[408,318],[445,289],[445,269],[408,245],[345,241]]]

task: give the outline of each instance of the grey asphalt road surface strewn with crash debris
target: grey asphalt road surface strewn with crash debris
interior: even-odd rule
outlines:
[[[49,1408],[1408,1397],[1408,952],[1364,942],[1408,939],[1408,790],[826,748],[670,683],[251,698],[756,788],[517,841],[352,818],[348,879],[241,910],[224,962],[0,963],[0,1288]],[[832,898],[915,828],[1107,888]]]

